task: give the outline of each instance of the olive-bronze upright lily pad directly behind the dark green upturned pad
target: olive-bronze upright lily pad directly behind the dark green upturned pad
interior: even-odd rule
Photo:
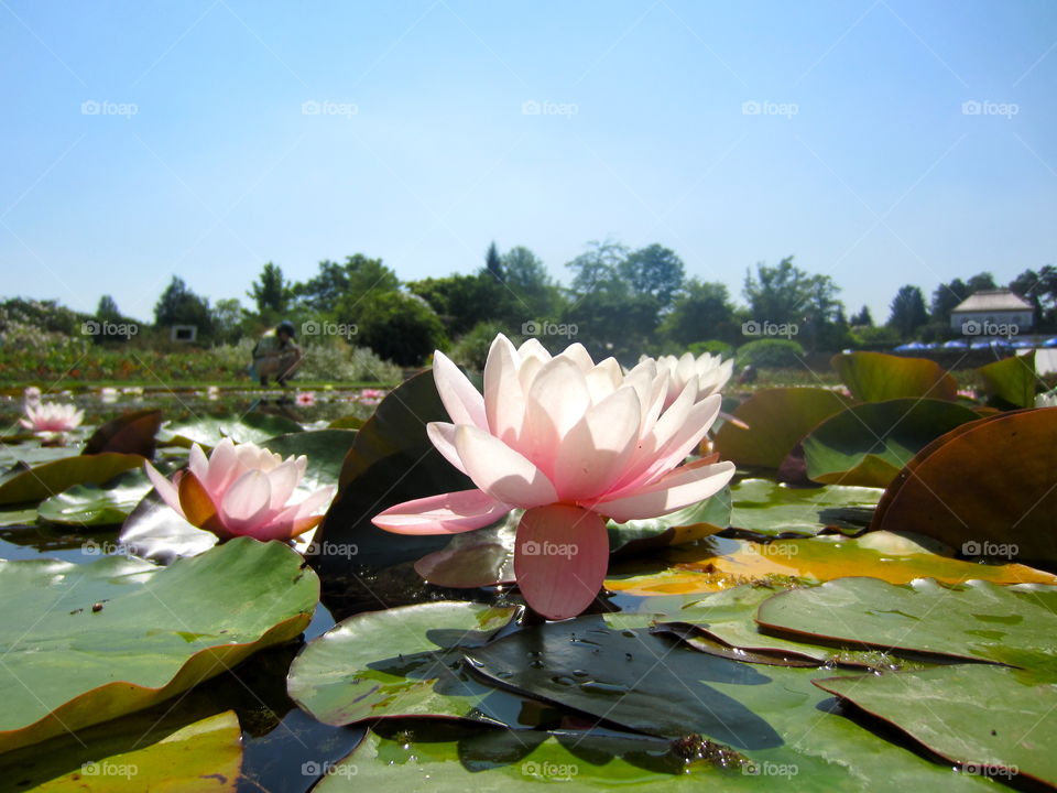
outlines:
[[[894,399],[958,399],[958,382],[936,361],[884,352],[835,355],[830,365],[852,397],[863,402]]]

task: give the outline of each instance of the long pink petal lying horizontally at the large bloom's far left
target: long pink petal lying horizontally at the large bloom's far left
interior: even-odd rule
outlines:
[[[481,490],[459,490],[399,503],[371,522],[396,534],[456,534],[494,523],[510,510]]]

